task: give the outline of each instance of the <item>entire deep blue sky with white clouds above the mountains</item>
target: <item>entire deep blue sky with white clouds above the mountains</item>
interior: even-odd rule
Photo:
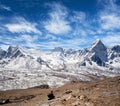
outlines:
[[[0,47],[120,44],[120,0],[0,0]]]

